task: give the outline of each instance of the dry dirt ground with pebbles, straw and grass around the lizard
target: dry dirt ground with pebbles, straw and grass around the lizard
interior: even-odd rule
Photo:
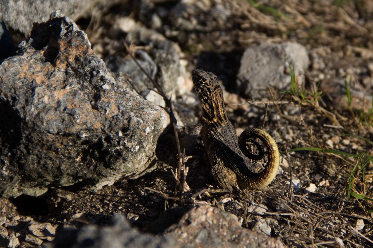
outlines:
[[[153,2],[165,11],[176,4],[166,0]],[[42,198],[10,199],[9,212],[52,223],[63,223],[67,216],[80,218],[80,213],[85,213],[88,221],[106,223],[108,216],[121,212],[132,216],[133,224],[141,230],[161,233],[162,229],[148,230],[147,226],[164,210],[210,204],[242,217],[245,228],[253,228],[261,217],[273,218],[276,222],[271,225],[270,235],[291,247],[373,246],[373,1],[235,2],[242,2],[253,19],[237,21],[237,27],[226,31],[230,37],[226,46],[219,46],[217,37],[221,36],[215,36],[213,31],[195,31],[194,36],[185,31],[179,37],[167,37],[162,28],[158,31],[180,44],[188,70],[212,71],[226,85],[226,108],[237,131],[263,127],[274,137],[281,152],[281,168],[269,187],[236,190],[232,198],[201,195],[192,201],[190,193],[216,184],[203,160],[188,159],[186,184],[190,190],[186,188],[182,193],[177,188],[175,194],[172,171],[177,171],[178,152],[170,128],[159,140],[155,171],[135,180],[123,179],[97,192],[75,185],[49,190]],[[100,25],[109,27],[117,16],[123,15],[143,20],[137,4],[127,1],[102,10],[91,19],[82,19],[78,25],[87,32],[94,48],[107,38],[92,24],[98,23],[95,18],[99,16]],[[236,95],[231,83],[245,47],[262,41],[296,41],[307,48],[311,60],[304,82],[298,82],[289,92],[274,93],[264,104]],[[109,53],[105,50],[102,54]],[[185,124],[179,130],[182,138],[197,122],[200,106],[188,106],[182,98],[173,104]],[[194,147],[192,153],[203,156],[203,144]],[[182,170],[181,180],[183,176]],[[35,209],[22,209],[26,202]],[[267,212],[261,216],[247,213],[252,203],[264,204]]]

